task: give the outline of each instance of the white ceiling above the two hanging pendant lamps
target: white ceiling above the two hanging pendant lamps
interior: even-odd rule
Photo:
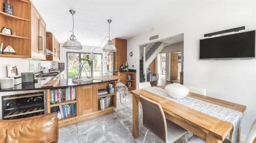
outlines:
[[[112,19],[112,38],[130,38],[167,21],[189,16],[221,0],[32,0],[57,40],[70,36],[76,11],[75,34],[82,45],[99,45],[108,35],[107,19]],[[106,39],[105,39],[106,40]]]

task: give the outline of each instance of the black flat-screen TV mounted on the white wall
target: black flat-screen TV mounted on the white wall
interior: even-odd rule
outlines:
[[[255,31],[200,40],[200,59],[255,58]]]

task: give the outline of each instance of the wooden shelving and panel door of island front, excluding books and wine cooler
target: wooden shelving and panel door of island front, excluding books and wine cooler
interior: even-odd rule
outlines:
[[[113,84],[114,93],[107,93],[101,96],[98,96],[99,89],[106,89],[108,84]],[[52,112],[51,109],[59,106],[70,105],[72,103],[76,103],[76,115],[68,115],[66,118],[59,119],[59,128],[66,127],[67,125],[76,124],[79,122],[83,122],[85,120],[97,118],[100,116],[112,114],[114,108],[117,105],[117,96],[116,96],[116,81],[106,81],[104,83],[98,84],[89,84],[89,85],[79,85],[74,88],[76,99],[71,99],[68,101],[56,102],[55,104],[51,104],[51,94],[52,90],[56,89],[47,89],[47,112]],[[100,98],[108,97],[112,98],[112,104],[101,110],[99,108],[98,101]]]

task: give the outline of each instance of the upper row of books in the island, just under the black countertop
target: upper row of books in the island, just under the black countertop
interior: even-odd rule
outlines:
[[[76,99],[76,88],[60,88],[51,90],[51,104],[56,102],[70,101]]]

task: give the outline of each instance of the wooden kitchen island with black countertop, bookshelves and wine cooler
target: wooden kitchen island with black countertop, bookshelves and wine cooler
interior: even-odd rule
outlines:
[[[61,112],[61,119],[59,119],[59,128],[61,128],[113,113],[117,106],[116,84],[118,78],[108,77],[97,77],[97,80],[93,80],[91,83],[80,84],[72,83],[71,79],[51,79],[43,84],[40,84],[39,81],[39,83],[25,83],[11,89],[0,89],[0,92],[43,90],[44,114]],[[98,95],[98,91],[106,89],[109,84],[113,85],[114,92],[110,93],[108,91],[105,94]],[[36,93],[36,95],[38,94]],[[29,94],[25,97],[28,98],[28,96],[33,97],[35,95]],[[20,96],[17,95],[16,97]],[[15,97],[9,99],[13,98]],[[100,107],[100,99],[102,98],[109,98],[109,106]],[[18,115],[26,114],[26,112]],[[3,111],[4,116],[5,111]]]

